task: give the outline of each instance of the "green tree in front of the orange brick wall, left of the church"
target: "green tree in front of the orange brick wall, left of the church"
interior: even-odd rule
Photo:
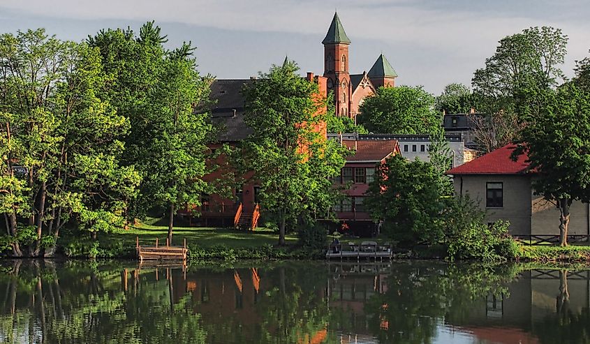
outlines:
[[[272,66],[244,90],[244,121],[253,130],[244,142],[245,166],[260,183],[260,207],[279,223],[280,245],[287,222],[327,216],[337,196],[330,178],[346,154],[318,130],[330,116],[327,100],[297,69],[291,62]]]

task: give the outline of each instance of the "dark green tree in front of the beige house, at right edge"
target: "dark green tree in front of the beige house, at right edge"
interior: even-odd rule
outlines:
[[[560,244],[566,246],[572,202],[590,202],[590,95],[570,82],[536,98],[538,112],[524,119],[513,156],[528,156],[534,190],[559,209]]]

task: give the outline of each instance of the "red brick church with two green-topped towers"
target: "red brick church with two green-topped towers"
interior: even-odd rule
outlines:
[[[346,36],[338,13],[334,13],[322,44],[324,45],[324,77],[327,78],[327,92],[334,92],[337,116],[355,118],[364,97],[374,94],[378,87],[395,86],[397,73],[383,54],[379,55],[369,73],[350,73],[348,46],[351,45],[351,40]]]

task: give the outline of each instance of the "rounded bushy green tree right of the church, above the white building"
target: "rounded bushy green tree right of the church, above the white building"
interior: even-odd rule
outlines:
[[[434,96],[422,87],[380,87],[365,98],[357,122],[371,133],[432,134],[441,130]]]

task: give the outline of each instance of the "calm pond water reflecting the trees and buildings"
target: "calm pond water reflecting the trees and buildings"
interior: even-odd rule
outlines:
[[[590,271],[0,262],[0,343],[590,343]]]

